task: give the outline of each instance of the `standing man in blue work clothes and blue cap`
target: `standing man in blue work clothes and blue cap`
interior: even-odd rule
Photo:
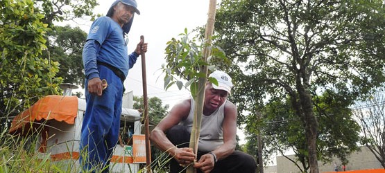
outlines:
[[[108,172],[119,136],[123,82],[137,57],[147,51],[140,40],[128,55],[126,42],[135,0],[117,0],[105,17],[96,19],[83,48],[87,107],[80,136],[80,165],[85,172]]]

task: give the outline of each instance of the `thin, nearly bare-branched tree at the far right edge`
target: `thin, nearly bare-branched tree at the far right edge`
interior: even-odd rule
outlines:
[[[362,143],[385,169],[385,95],[376,93],[366,102],[357,103],[354,115],[362,127]]]

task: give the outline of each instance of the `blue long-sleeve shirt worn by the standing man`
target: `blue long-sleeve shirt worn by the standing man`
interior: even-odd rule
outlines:
[[[99,77],[96,62],[104,62],[121,70],[125,76],[139,55],[128,55],[123,39],[123,30],[110,17],[96,19],[89,30],[83,48],[83,66],[88,80]]]

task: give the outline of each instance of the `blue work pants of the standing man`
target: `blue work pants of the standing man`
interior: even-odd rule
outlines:
[[[108,82],[101,96],[89,94],[85,82],[87,107],[80,134],[80,165],[84,171],[108,172],[117,145],[120,127],[123,84],[105,66],[98,66],[101,80]]]

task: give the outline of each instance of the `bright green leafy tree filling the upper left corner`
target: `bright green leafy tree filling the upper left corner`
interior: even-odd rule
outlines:
[[[59,62],[45,55],[49,48],[47,33],[55,30],[53,21],[93,16],[92,9],[96,5],[96,0],[0,2],[2,120],[3,117],[19,113],[42,95],[61,93],[58,84],[62,78],[57,77]],[[71,73],[74,71],[77,70]]]

